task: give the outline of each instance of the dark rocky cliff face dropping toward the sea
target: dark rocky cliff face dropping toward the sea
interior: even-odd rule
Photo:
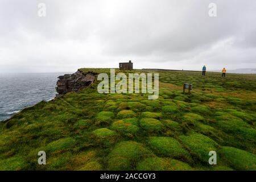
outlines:
[[[96,74],[93,72],[82,73],[77,71],[73,74],[66,74],[58,77],[57,81],[56,96],[62,96],[68,92],[76,92],[86,86],[93,84],[96,80]]]

